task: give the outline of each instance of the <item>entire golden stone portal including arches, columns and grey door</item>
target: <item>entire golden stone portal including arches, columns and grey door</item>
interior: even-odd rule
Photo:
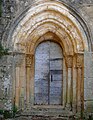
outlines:
[[[19,53],[13,68],[17,107],[84,108],[84,50],[89,45],[78,19],[64,4],[46,1],[30,8],[11,40]]]

